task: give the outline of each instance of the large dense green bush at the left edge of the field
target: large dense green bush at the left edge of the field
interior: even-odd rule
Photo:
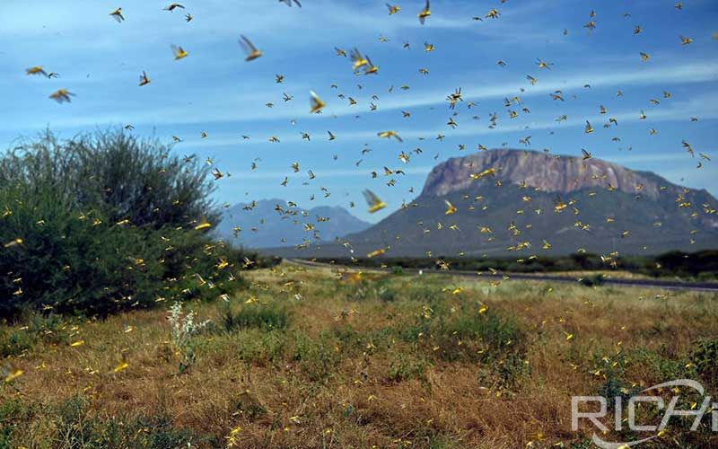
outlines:
[[[244,254],[206,235],[219,218],[210,179],[121,131],[21,141],[0,159],[0,317],[229,292]]]

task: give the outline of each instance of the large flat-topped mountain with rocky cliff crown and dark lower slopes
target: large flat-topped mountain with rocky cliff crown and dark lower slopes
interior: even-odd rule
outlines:
[[[453,214],[447,214],[451,206]],[[500,149],[434,167],[414,201],[339,244],[285,257],[655,254],[718,248],[718,201],[594,158]],[[351,247],[354,251],[350,253]]]

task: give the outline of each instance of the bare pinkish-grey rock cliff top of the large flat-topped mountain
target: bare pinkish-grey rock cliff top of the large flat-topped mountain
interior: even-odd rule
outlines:
[[[502,183],[525,184],[545,192],[570,193],[582,189],[616,189],[658,198],[661,189],[678,186],[652,173],[633,172],[626,167],[591,158],[538,151],[494,149],[483,153],[451,158],[433,168],[422,195],[442,197],[476,185],[471,175],[494,169]]]

